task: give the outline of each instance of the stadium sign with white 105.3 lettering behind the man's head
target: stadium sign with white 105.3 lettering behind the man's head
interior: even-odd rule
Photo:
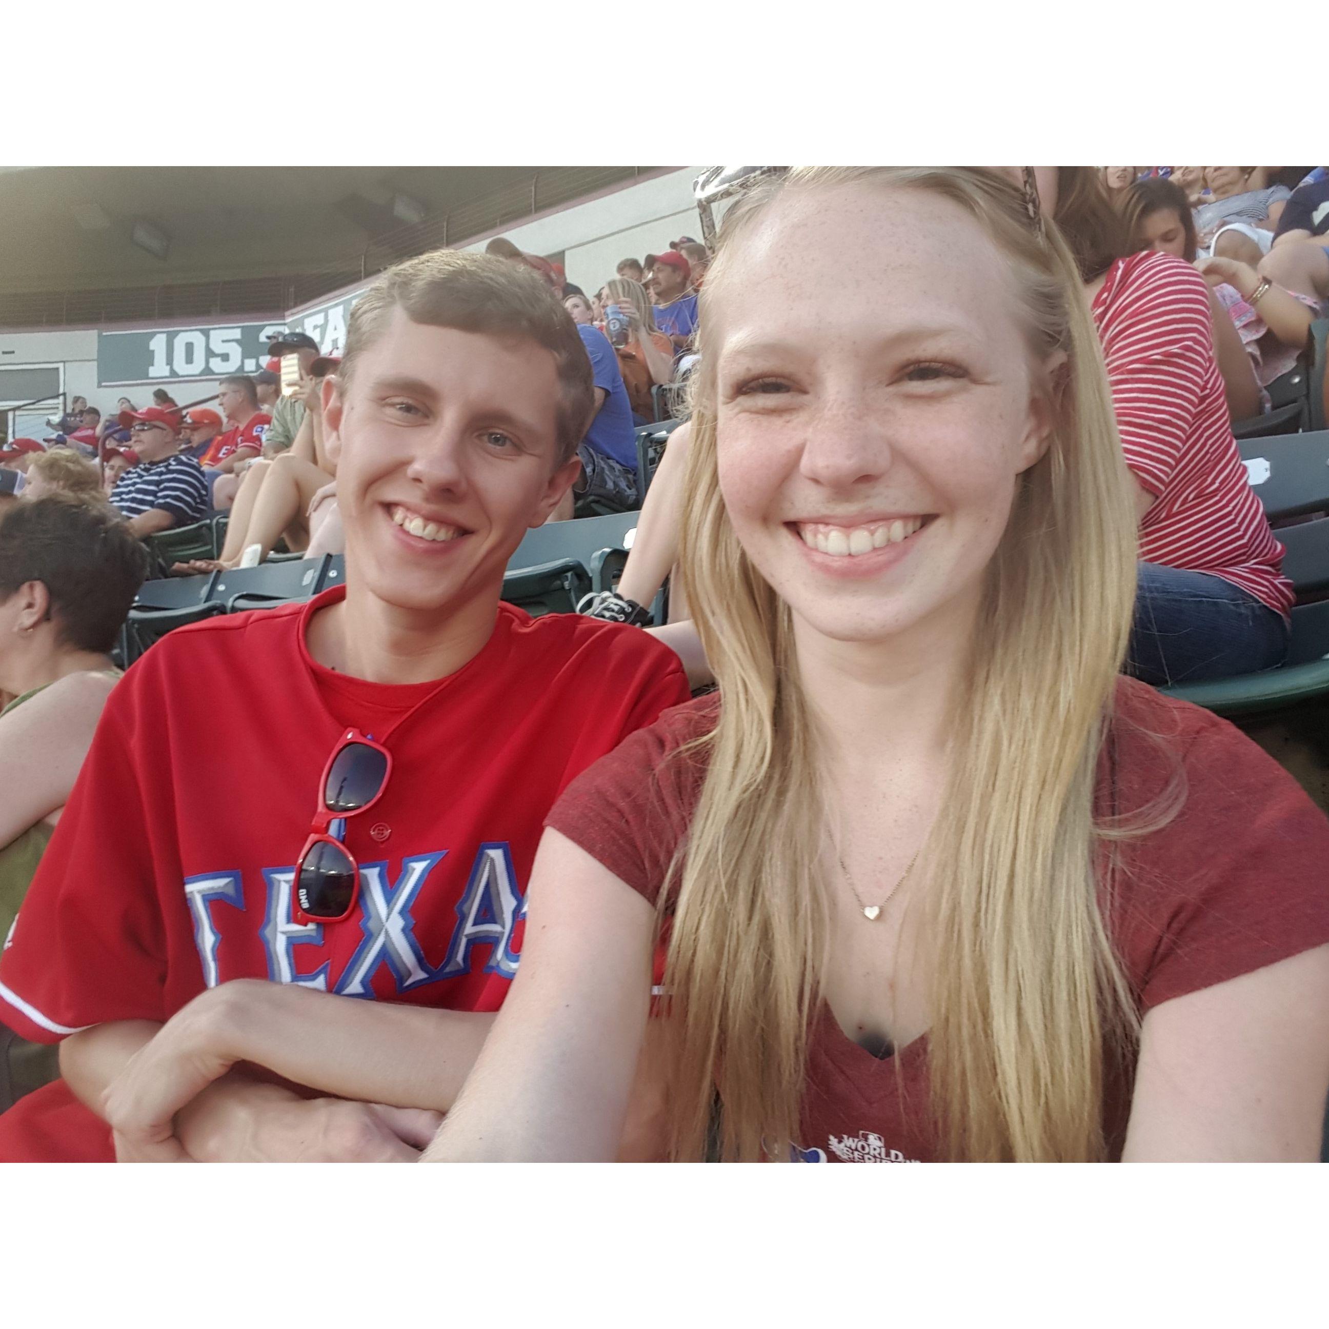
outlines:
[[[364,287],[314,304],[284,320],[206,323],[198,327],[98,331],[97,384],[102,388],[157,387],[254,373],[263,368],[267,344],[280,332],[307,332],[324,355],[340,355],[346,320]]]

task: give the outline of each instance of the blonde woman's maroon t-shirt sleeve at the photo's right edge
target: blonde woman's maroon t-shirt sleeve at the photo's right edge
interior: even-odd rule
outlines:
[[[1329,944],[1329,820],[1268,754],[1205,716],[1175,821],[1132,851],[1146,1010]]]

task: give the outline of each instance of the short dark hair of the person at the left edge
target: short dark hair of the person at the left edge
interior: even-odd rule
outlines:
[[[148,575],[148,550],[104,502],[51,494],[0,522],[0,602],[40,581],[60,641],[108,653]]]

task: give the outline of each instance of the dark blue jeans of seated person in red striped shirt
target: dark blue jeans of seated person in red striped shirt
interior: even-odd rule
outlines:
[[[1209,573],[1140,563],[1126,671],[1163,687],[1277,668],[1286,619]]]

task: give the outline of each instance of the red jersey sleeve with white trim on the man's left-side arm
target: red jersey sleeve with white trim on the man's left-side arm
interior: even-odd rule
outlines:
[[[157,882],[181,878],[170,788],[152,776],[165,764],[154,683],[149,653],[112,690],[0,954],[0,1022],[23,1038],[165,1019]]]

